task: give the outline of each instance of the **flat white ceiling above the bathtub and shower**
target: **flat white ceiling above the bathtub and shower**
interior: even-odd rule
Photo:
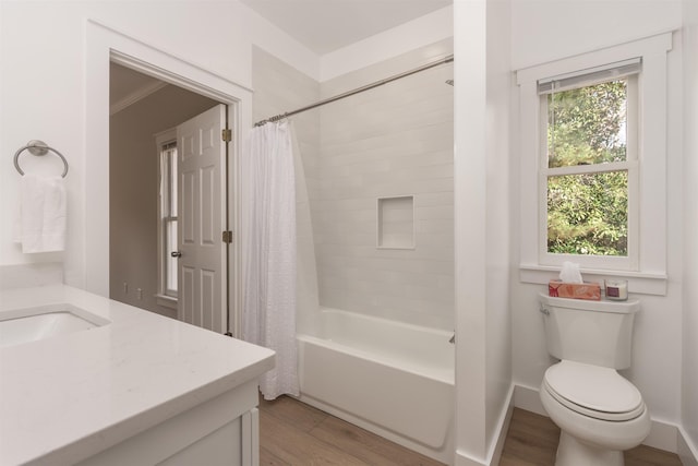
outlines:
[[[241,0],[318,55],[448,7],[453,0]]]

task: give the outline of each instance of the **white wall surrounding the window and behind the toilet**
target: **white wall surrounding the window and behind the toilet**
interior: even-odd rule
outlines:
[[[603,8],[603,14],[599,14],[600,8]],[[515,68],[521,68],[679,28],[682,10],[681,2],[662,0],[516,0],[513,3],[512,17],[512,61]],[[669,423],[678,423],[681,419],[682,380],[684,211],[681,141],[682,46],[681,36],[677,37],[669,55],[667,72],[667,292],[666,296],[635,296],[641,300],[642,310],[636,320],[633,368],[624,372],[641,391],[652,418]],[[517,92],[516,88],[514,92]],[[517,170],[513,174],[514,179],[518,177],[519,164],[516,146],[514,141],[512,165]],[[513,211],[512,215],[513,230],[517,231],[518,213]],[[518,256],[519,244],[515,241],[515,267],[518,265]],[[516,268],[514,277],[510,298],[514,379],[517,384],[537,390],[544,370],[551,363],[544,346],[542,322],[535,299],[539,291],[544,291],[544,287],[520,283]]]

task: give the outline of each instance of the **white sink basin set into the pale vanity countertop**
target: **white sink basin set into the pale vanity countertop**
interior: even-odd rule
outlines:
[[[71,304],[0,312],[0,348],[107,325],[107,319]]]

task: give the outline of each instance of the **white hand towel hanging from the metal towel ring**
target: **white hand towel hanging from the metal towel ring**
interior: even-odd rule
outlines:
[[[22,252],[51,252],[65,249],[65,184],[61,177],[26,174],[20,183],[20,208],[15,242]]]

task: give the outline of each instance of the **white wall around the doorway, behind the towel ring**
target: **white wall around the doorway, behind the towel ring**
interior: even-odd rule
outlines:
[[[91,272],[87,277],[85,272],[93,260],[86,253],[88,243],[98,237],[108,241],[107,222],[86,218],[86,212],[97,212],[100,204],[105,212],[107,208],[106,194],[86,192],[107,183],[106,176],[101,175],[99,177],[105,179],[86,179],[96,166],[106,163],[105,154],[85,151],[86,146],[92,146],[89,138],[103,139],[101,145],[106,147],[106,135],[88,134],[86,128],[92,122],[86,121],[86,111],[103,105],[105,121],[108,111],[106,101],[96,103],[95,89],[88,86],[97,83],[106,88],[106,75],[85,74],[89,40],[93,39],[86,33],[89,32],[88,20],[193,63],[224,82],[241,86],[251,85],[253,43],[263,44],[267,50],[311,75],[317,75],[320,69],[317,57],[236,1],[169,2],[166,9],[159,1],[0,2],[0,152],[14,154],[27,141],[41,139],[61,151],[71,164],[67,179],[67,252],[58,258],[55,254],[22,254],[11,242],[11,224],[3,222],[0,226],[0,264],[64,260],[67,282],[80,287],[95,275]],[[106,63],[108,50],[99,60]],[[0,213],[11,218],[19,183],[19,175],[11,163],[0,165]],[[93,182],[96,186],[87,188]],[[88,234],[93,229],[96,234]],[[94,270],[101,265],[89,266]],[[99,280],[99,284],[104,283],[108,284],[108,280]],[[104,291],[106,287],[97,285],[95,288]]]

